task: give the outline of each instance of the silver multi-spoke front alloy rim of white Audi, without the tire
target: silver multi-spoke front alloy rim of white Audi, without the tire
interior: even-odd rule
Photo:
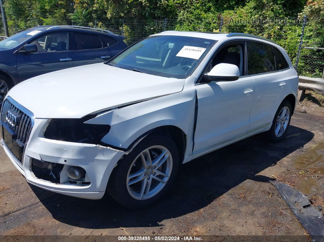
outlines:
[[[172,172],[172,156],[160,145],[151,146],[134,159],[126,185],[129,194],[137,200],[146,200],[157,195],[167,184]]]

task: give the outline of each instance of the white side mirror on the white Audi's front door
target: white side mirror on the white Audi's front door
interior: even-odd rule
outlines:
[[[210,72],[204,75],[207,82],[211,81],[235,81],[240,76],[240,70],[236,65],[220,63],[214,66]]]

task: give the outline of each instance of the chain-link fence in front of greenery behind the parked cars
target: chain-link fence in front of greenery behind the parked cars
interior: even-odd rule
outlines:
[[[128,45],[167,30],[206,31],[221,33],[248,33],[277,42],[288,53],[301,76],[322,77],[324,69],[324,18],[267,18],[241,19],[217,16],[215,19],[161,19],[161,20],[94,20],[94,21],[29,21],[8,23],[9,33],[37,25],[77,25],[97,27],[125,36]],[[0,25],[0,35],[2,31]]]

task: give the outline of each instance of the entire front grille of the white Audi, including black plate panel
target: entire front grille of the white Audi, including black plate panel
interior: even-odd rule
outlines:
[[[15,118],[14,124],[6,120],[7,113],[13,114],[12,117],[19,117]],[[29,110],[20,106],[10,97],[4,101],[1,111],[2,136],[7,148],[20,163],[22,163],[25,144],[28,142],[33,125],[32,118],[33,115]]]

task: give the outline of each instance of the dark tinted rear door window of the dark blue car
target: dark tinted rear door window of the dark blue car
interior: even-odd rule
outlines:
[[[102,48],[102,43],[98,35],[74,33],[74,49],[98,49]]]

